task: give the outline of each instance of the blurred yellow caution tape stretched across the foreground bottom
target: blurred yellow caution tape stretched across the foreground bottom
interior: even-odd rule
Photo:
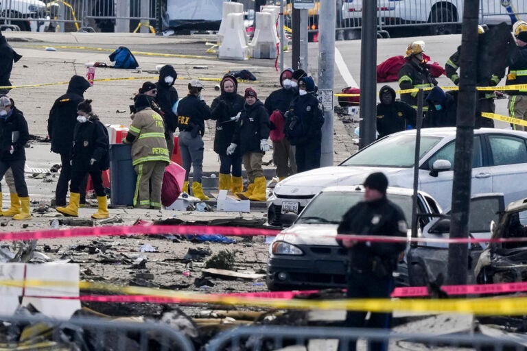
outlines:
[[[72,287],[76,284],[61,281],[38,280],[1,280],[0,285],[8,287]],[[121,287],[100,282],[82,281],[78,284],[82,290],[106,291],[126,295],[145,295],[157,298],[174,298],[180,301],[201,302],[224,305],[245,305],[282,309],[309,309],[373,311],[373,312],[429,312],[429,313],[473,313],[475,315],[526,315],[527,298],[469,298],[469,299],[355,299],[355,300],[301,300],[255,298],[239,295],[213,295],[193,291],[174,291],[145,287]]]

